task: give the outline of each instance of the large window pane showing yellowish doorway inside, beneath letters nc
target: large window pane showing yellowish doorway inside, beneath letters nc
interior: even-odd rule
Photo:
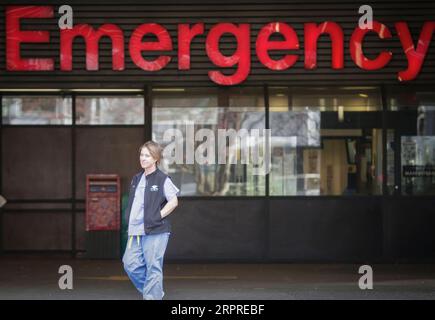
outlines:
[[[374,88],[271,88],[271,195],[382,193]]]

